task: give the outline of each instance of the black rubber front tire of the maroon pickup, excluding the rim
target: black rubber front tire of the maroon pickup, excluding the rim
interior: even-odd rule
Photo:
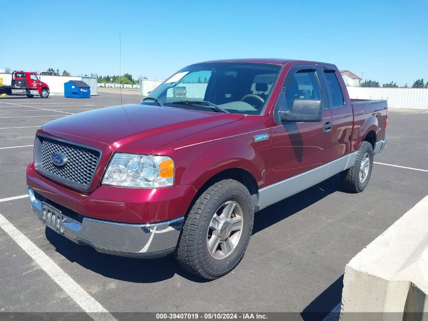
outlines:
[[[221,208],[224,203],[234,203],[234,208],[240,210],[240,213],[242,213],[242,228],[237,243],[231,251],[224,258],[216,259],[214,255],[217,254],[211,254],[208,249],[209,226],[215,213],[223,210]],[[221,215],[223,215],[223,212],[221,212]],[[233,215],[232,219],[235,219],[236,216],[233,217]],[[175,257],[184,269],[202,278],[212,280],[223,276],[234,269],[243,258],[250,241],[253,222],[254,208],[248,189],[235,180],[222,180],[215,183],[192,206],[181,230]],[[233,224],[230,226],[233,226]],[[214,232],[211,231],[211,233]],[[234,234],[229,235],[232,238]],[[218,248],[217,253],[222,253],[221,245],[224,244],[219,243],[218,247],[216,247]]]

